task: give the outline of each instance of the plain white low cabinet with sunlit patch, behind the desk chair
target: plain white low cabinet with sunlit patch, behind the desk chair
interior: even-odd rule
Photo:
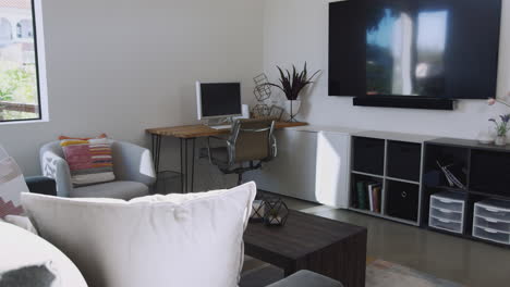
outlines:
[[[353,128],[303,126],[276,132],[278,155],[247,173],[262,190],[337,208],[349,208]]]

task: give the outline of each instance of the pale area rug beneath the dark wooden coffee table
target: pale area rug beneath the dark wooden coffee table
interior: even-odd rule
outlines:
[[[283,271],[269,264],[243,273],[240,287],[265,287],[283,278]],[[462,287],[396,263],[374,260],[366,267],[366,287]]]

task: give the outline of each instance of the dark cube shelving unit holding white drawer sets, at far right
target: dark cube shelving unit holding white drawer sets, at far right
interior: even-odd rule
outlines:
[[[436,160],[456,164],[457,175],[465,188],[451,187],[439,171]],[[462,172],[459,172],[462,171]],[[429,219],[434,198],[445,192],[456,194],[465,202],[462,229],[437,228],[441,233],[510,247],[510,146],[482,145],[476,140],[438,138],[425,145],[423,169],[422,219]],[[445,219],[442,216],[444,221]],[[448,226],[448,225],[446,225]],[[450,224],[451,226],[451,224]]]

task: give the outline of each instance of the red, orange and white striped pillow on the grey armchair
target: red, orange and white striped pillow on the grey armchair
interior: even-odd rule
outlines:
[[[74,186],[112,182],[113,160],[108,138],[62,139],[60,146],[71,170]]]

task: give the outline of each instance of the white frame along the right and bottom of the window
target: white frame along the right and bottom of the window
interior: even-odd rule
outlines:
[[[40,123],[49,122],[48,113],[48,89],[46,78],[46,51],[44,41],[42,26],[42,0],[31,0],[32,2],[32,25],[34,34],[34,57],[36,70],[36,90],[38,117],[0,121],[1,125],[20,123]]]

